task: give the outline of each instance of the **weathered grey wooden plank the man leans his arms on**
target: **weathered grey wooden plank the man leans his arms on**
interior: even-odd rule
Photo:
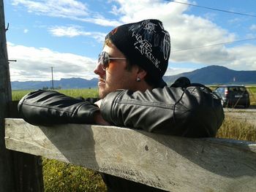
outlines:
[[[168,191],[256,191],[256,144],[6,119],[6,146]]]

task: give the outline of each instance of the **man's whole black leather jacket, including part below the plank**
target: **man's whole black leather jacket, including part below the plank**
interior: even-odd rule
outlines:
[[[28,123],[94,123],[95,112],[115,126],[140,128],[159,134],[183,137],[214,137],[222,125],[220,99],[208,88],[155,88],[153,91],[109,93],[100,109],[97,99],[74,99],[56,91],[34,91],[20,100],[18,110]],[[108,191],[161,191],[103,174]]]

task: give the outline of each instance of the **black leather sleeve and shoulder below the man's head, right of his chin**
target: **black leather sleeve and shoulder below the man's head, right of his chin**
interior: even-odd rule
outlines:
[[[116,126],[184,137],[214,137],[224,119],[219,98],[198,87],[116,91],[103,99],[100,110]]]

